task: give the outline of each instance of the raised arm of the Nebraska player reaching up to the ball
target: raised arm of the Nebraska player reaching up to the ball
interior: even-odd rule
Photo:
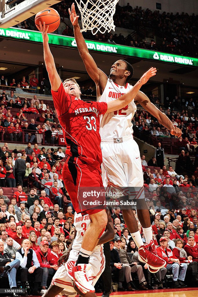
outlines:
[[[45,27],[45,22],[42,23],[39,22],[39,26],[37,26],[37,29],[41,32],[42,38],[43,38],[43,52],[44,52],[44,61],[45,61],[45,66],[49,75],[50,79],[50,84],[53,89],[53,91],[58,91],[58,88],[61,84],[61,79],[60,76],[58,75],[58,72],[56,70],[56,66],[54,63],[54,58],[52,56],[52,53],[50,51],[50,47],[48,44],[49,37],[47,35],[47,30],[49,26]]]

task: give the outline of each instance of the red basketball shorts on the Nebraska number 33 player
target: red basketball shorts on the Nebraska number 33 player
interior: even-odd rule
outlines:
[[[100,168],[69,157],[63,166],[62,177],[77,213],[90,215],[106,208]]]

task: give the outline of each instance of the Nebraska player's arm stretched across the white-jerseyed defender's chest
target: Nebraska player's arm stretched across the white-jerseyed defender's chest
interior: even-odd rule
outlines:
[[[147,72],[145,72],[140,80],[133,86],[133,88],[128,91],[126,94],[122,95],[119,99],[116,99],[114,101],[108,102],[107,103],[107,113],[119,110],[124,108],[126,105],[128,105],[131,101],[132,98],[136,97],[137,92],[140,90],[141,86],[147,83],[149,78],[153,77],[156,75],[156,68],[151,67]]]

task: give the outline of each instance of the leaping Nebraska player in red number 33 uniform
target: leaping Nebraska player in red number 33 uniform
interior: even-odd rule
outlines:
[[[48,44],[48,26],[45,28],[45,23],[42,26],[40,22],[37,29],[42,33],[44,60],[52,88],[53,102],[67,144],[67,155],[69,155],[62,171],[64,184],[75,211],[87,213],[91,218],[91,223],[83,236],[76,265],[73,267],[73,278],[77,287],[81,286],[87,291],[94,292],[92,283],[86,277],[86,265],[98,242],[99,234],[107,224],[107,214],[104,210],[105,197],[100,198],[103,209],[93,209],[93,206],[87,209],[83,206],[83,197],[79,195],[79,191],[83,187],[101,190],[103,186],[100,168],[102,151],[100,149],[99,116],[128,105],[131,98],[137,95],[140,87],[150,77],[156,75],[156,69],[153,67],[149,69],[127,94],[123,94],[117,100],[108,103],[84,102],[80,99],[80,89],[75,80],[66,79],[64,83],[61,82]],[[96,200],[94,196],[86,199],[88,198],[89,202],[94,198]]]

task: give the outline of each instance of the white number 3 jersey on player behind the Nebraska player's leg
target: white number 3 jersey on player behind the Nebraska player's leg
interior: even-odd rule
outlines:
[[[77,214],[75,212],[74,214],[74,226],[75,226],[75,229],[76,229],[76,237],[73,241],[73,244],[72,244],[72,251],[76,251],[76,252],[79,252],[80,251],[80,248],[81,248],[81,244],[82,244],[82,241],[83,241],[83,235],[85,233],[85,231],[87,230],[88,226],[90,225],[91,223],[91,220],[90,220],[90,217],[89,215],[84,215],[82,216],[81,213]],[[103,244],[102,245],[97,245],[92,254],[94,253],[101,253],[101,247],[103,247]],[[72,252],[71,251],[71,252]]]

